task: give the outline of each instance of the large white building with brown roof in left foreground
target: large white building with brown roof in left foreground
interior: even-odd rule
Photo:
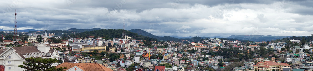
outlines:
[[[38,43],[37,46],[24,46],[24,47],[9,47],[7,49],[0,49],[0,65],[4,65],[4,71],[23,71],[24,68],[18,67],[26,62],[25,59],[29,57],[34,58],[56,58],[58,59],[59,53],[55,49],[50,49],[50,44]],[[4,56],[3,56],[4,55]],[[3,62],[4,61],[4,62]],[[57,66],[58,63],[52,66]]]

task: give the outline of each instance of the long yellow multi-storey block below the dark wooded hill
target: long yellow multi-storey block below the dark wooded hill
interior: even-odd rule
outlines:
[[[94,52],[94,50],[98,50],[98,53],[105,52],[106,46],[83,45],[82,47],[84,52]]]

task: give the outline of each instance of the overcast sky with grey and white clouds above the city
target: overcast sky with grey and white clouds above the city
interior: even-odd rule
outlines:
[[[0,29],[142,29],[157,36],[313,33],[312,0],[1,0]]]

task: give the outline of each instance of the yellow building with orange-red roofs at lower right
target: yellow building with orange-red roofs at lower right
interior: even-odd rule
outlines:
[[[275,70],[275,71],[283,71],[283,68],[289,68],[290,65],[286,63],[277,63],[275,62],[275,59],[272,58],[271,61],[261,61],[258,64],[254,65],[254,69],[260,70]]]

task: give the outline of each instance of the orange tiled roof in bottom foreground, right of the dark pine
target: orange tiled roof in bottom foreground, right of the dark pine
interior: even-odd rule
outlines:
[[[77,66],[78,68],[82,69],[83,71],[113,71],[110,68],[106,68],[105,66],[98,64],[98,63],[69,63],[69,62],[64,62],[56,68],[60,67],[66,67],[66,69],[63,69],[65,71],[71,71],[73,67],[75,68]],[[75,71],[75,70],[73,70]]]

